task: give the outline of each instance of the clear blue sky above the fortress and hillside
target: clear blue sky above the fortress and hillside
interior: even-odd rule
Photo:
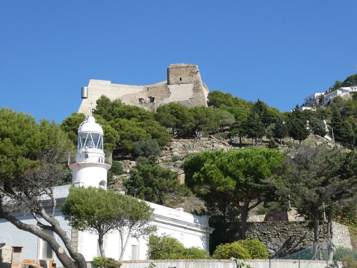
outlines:
[[[57,123],[90,79],[147,85],[197,64],[210,90],[287,111],[355,74],[357,1],[0,3],[0,105]]]

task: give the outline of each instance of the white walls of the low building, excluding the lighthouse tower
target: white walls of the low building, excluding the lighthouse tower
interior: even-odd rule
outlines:
[[[62,202],[67,197],[70,185],[56,187],[55,197],[61,199]],[[144,202],[144,201],[143,201]],[[61,203],[61,202],[58,202]],[[157,204],[147,202],[154,208],[154,220],[152,225],[157,226],[157,235],[170,235],[184,244],[186,248],[197,247],[200,249],[209,250],[209,236],[213,229],[208,225],[207,216],[197,216],[191,213],[184,212],[182,208],[168,208]],[[31,215],[16,214],[19,220],[26,224],[36,225],[36,221]],[[60,222],[61,227],[66,231],[71,238],[72,228],[68,222],[64,220],[61,212],[56,213],[56,218]],[[97,235],[78,231],[78,237],[75,241],[78,244],[79,252],[81,252],[87,261],[92,261],[94,256],[99,256]],[[74,237],[74,236],[73,236]],[[60,239],[61,247],[65,248]],[[39,238],[29,232],[17,229],[14,225],[6,220],[0,219],[0,243],[6,243],[7,246],[23,247],[24,259],[38,259]],[[132,246],[137,246],[137,256],[132,256]],[[107,257],[118,259],[120,255],[120,237],[119,233],[111,233],[105,236],[104,249]],[[133,238],[131,237],[127,243],[127,247],[123,256],[123,260],[146,259],[147,252],[147,237]],[[58,266],[62,264],[54,259]]]

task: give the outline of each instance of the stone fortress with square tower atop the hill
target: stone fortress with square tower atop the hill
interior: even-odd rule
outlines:
[[[111,101],[120,99],[124,104],[151,111],[170,102],[187,107],[207,107],[208,92],[197,65],[171,64],[167,68],[167,81],[147,86],[112,84],[108,80],[91,79],[88,84],[88,98],[82,100],[78,112],[90,113],[101,95],[106,95]]]

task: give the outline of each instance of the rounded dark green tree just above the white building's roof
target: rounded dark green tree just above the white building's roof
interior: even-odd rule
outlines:
[[[138,170],[130,171],[131,177],[123,182],[127,193],[142,200],[171,206],[189,194],[185,184],[177,179],[177,173],[160,166],[138,164]]]

